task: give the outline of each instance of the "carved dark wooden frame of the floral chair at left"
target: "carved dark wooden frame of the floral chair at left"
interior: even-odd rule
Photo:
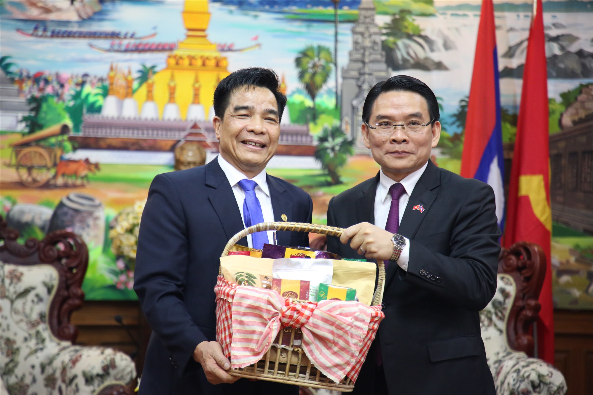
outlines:
[[[0,260],[15,265],[52,265],[58,270],[59,280],[55,297],[49,308],[47,324],[60,340],[76,341],[78,329],[70,323],[74,310],[82,307],[82,281],[87,272],[88,249],[78,235],[54,231],[43,240],[29,238],[25,244],[17,241],[18,231],[10,229],[0,216]],[[98,395],[132,395],[131,388],[112,384]]]

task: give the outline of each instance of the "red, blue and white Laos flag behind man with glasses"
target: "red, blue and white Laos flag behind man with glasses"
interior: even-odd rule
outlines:
[[[478,179],[492,186],[501,230],[505,222],[503,165],[494,7],[492,0],[482,0],[476,58],[467,104],[461,176]]]

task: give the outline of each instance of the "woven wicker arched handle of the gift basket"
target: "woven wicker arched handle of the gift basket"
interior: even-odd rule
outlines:
[[[342,228],[329,227],[327,225],[316,225],[316,224],[304,224],[302,222],[260,222],[259,224],[253,225],[244,229],[228,241],[227,245],[222,250],[221,257],[228,256],[228,252],[231,247],[237,244],[237,241],[246,237],[248,234],[263,232],[263,231],[296,231],[296,232],[313,232],[318,234],[326,234],[330,236],[340,237],[344,231]],[[382,260],[377,259],[377,267],[379,270],[379,280],[377,282],[377,289],[372,299],[371,306],[380,305],[383,300],[383,284],[385,283],[385,263]],[[218,268],[218,274],[222,275],[222,268]]]

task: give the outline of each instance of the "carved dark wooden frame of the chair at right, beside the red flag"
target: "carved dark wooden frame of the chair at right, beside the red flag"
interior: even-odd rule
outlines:
[[[498,272],[512,276],[517,286],[506,325],[506,337],[512,349],[529,356],[533,356],[534,351],[530,328],[540,313],[538,298],[546,269],[546,255],[537,244],[520,241],[500,251]]]

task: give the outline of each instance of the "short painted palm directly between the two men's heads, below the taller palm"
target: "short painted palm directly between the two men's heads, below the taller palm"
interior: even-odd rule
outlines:
[[[321,163],[321,168],[327,171],[331,184],[342,183],[339,170],[348,162],[348,157],[354,154],[354,141],[347,138],[339,125],[324,126],[315,138],[317,147],[314,157]]]

